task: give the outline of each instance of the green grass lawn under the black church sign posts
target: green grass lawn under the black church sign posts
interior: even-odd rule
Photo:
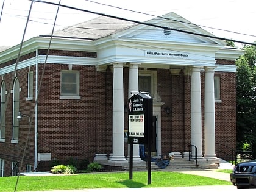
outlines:
[[[14,191],[17,177],[0,177],[0,191]],[[66,176],[20,176],[16,191],[71,190],[84,188],[143,188],[180,187],[196,185],[230,185],[230,182],[179,172],[153,171],[151,185],[148,185],[148,172],[110,172],[78,174]]]

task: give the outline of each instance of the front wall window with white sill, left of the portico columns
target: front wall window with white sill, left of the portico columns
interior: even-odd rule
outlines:
[[[79,71],[63,70],[60,79],[60,99],[80,99]]]

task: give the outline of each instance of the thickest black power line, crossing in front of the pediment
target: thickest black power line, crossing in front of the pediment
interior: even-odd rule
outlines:
[[[41,0],[34,0],[34,1],[35,2],[42,2],[42,3],[45,3],[45,4],[58,5],[58,4],[54,3],[54,2],[41,1]],[[130,19],[127,19],[127,18],[121,18],[119,16],[113,16],[113,15],[107,15],[105,13],[93,12],[93,11],[90,11],[90,10],[85,10],[85,9],[80,9],[80,8],[76,8],[76,7],[71,7],[71,6],[68,6],[68,5],[60,5],[60,7],[65,7],[67,9],[79,10],[81,12],[93,13],[93,14],[96,14],[96,15],[106,16],[106,17],[109,17],[109,18],[115,18],[115,19],[118,19],[118,20],[130,21],[130,22],[133,22],[133,23],[143,24],[143,25],[146,25],[146,26],[158,27],[158,28],[167,29],[167,30],[174,30],[174,31],[177,31],[177,32],[185,33],[185,34],[197,35],[197,36],[201,36],[201,37],[208,37],[208,38],[213,38],[213,39],[223,40],[223,41],[233,41],[233,42],[236,42],[236,43],[250,44],[250,45],[256,46],[256,43],[248,43],[248,42],[240,41],[240,40],[232,40],[232,39],[216,37],[216,36],[212,36],[212,35],[199,34],[199,33],[190,32],[190,31],[187,31],[187,30],[180,30],[180,29],[174,29],[174,28],[171,28],[171,27],[158,26],[157,24],[151,24],[151,23],[145,23],[145,22],[136,21],[136,20],[130,20]]]

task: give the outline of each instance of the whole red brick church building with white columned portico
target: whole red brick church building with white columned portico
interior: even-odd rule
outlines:
[[[20,45],[0,52],[0,176],[52,160],[127,163],[133,91],[153,98],[152,155],[183,157],[189,144],[202,160],[224,158],[217,144],[232,155],[243,52],[173,12],[146,23],[166,28],[99,16],[55,32],[47,60],[49,35],[25,41],[16,67]]]

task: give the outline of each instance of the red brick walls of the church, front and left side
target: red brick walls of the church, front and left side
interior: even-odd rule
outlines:
[[[40,50],[45,54],[45,50]],[[34,52],[23,59],[34,57]],[[94,52],[51,51],[52,55],[76,55],[77,57],[96,57]],[[232,64],[227,60],[221,62]],[[10,62],[5,63],[7,65]],[[13,64],[13,63],[12,63]],[[3,65],[0,65],[1,67]],[[38,152],[51,152],[52,159],[93,160],[94,154],[112,152],[112,90],[113,73],[110,67],[105,72],[96,71],[95,66],[73,65],[73,70],[80,73],[80,100],[60,99],[60,71],[68,65],[47,64],[43,84],[38,98]],[[38,65],[40,80],[43,64]],[[171,151],[188,151],[190,144],[190,90],[191,76],[173,75],[169,69],[152,69],[157,71],[157,90],[165,105],[161,108],[162,154]],[[32,101],[26,101],[27,72],[29,68],[17,72],[20,80],[20,110],[26,115],[33,115],[35,95]],[[31,66],[34,71],[35,66]],[[216,142],[236,147],[236,98],[235,73],[215,73],[221,77],[221,103],[215,104]],[[12,73],[5,74],[7,90]],[[124,103],[128,99],[129,69],[124,68]],[[0,77],[2,78],[2,77]],[[202,122],[204,122],[204,72],[201,73],[202,85]],[[35,93],[35,84],[34,84]],[[164,108],[171,108],[166,114]],[[12,94],[6,112],[5,143],[0,143],[0,158],[5,160],[5,174],[9,174],[10,162],[21,161],[27,133],[29,144],[21,172],[26,171],[26,164],[34,165],[34,121],[29,132],[26,121],[20,123],[19,144],[12,144]],[[127,129],[127,115],[124,115],[124,129]],[[202,123],[202,127],[203,127]],[[204,132],[203,132],[204,133]],[[202,135],[204,143],[204,135]],[[127,144],[125,145],[127,155]],[[204,150],[204,146],[202,148]]]

